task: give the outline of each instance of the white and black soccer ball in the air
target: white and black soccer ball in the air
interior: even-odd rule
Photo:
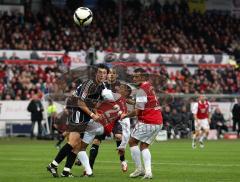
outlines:
[[[74,22],[79,26],[89,25],[92,22],[93,14],[89,8],[79,7],[74,15]]]

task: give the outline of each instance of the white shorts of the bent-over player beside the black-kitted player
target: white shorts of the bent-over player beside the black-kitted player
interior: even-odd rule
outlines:
[[[104,132],[103,125],[93,120],[90,120],[86,131],[84,132],[82,141],[86,144],[92,143],[96,135],[102,135]]]

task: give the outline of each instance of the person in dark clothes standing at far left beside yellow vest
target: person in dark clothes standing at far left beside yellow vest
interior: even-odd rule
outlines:
[[[31,113],[31,121],[32,121],[31,139],[33,139],[34,137],[34,126],[36,122],[38,124],[37,136],[41,137],[42,136],[42,119],[43,119],[42,112],[44,111],[44,109],[41,101],[38,98],[38,95],[34,95],[32,97],[32,100],[28,104],[27,110]]]

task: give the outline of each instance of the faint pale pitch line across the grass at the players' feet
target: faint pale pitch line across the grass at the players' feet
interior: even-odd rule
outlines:
[[[1,158],[0,158],[1,159]],[[1,161],[42,161],[42,159],[25,159],[25,158],[2,158]],[[106,164],[119,164],[115,161],[96,161],[97,163],[106,163]],[[133,162],[128,162],[133,164]],[[172,166],[204,166],[204,167],[240,167],[240,164],[211,164],[211,163],[176,163],[176,162],[152,162],[153,165],[172,165]]]

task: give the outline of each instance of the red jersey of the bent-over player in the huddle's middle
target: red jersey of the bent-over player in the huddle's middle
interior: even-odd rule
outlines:
[[[113,108],[115,105],[118,105],[118,110]],[[123,97],[120,97],[115,102],[104,101],[98,106],[97,112],[103,117],[99,123],[103,125],[104,133],[106,135],[109,135],[112,132],[115,123],[120,119],[119,111],[122,113],[127,112],[126,99]]]

